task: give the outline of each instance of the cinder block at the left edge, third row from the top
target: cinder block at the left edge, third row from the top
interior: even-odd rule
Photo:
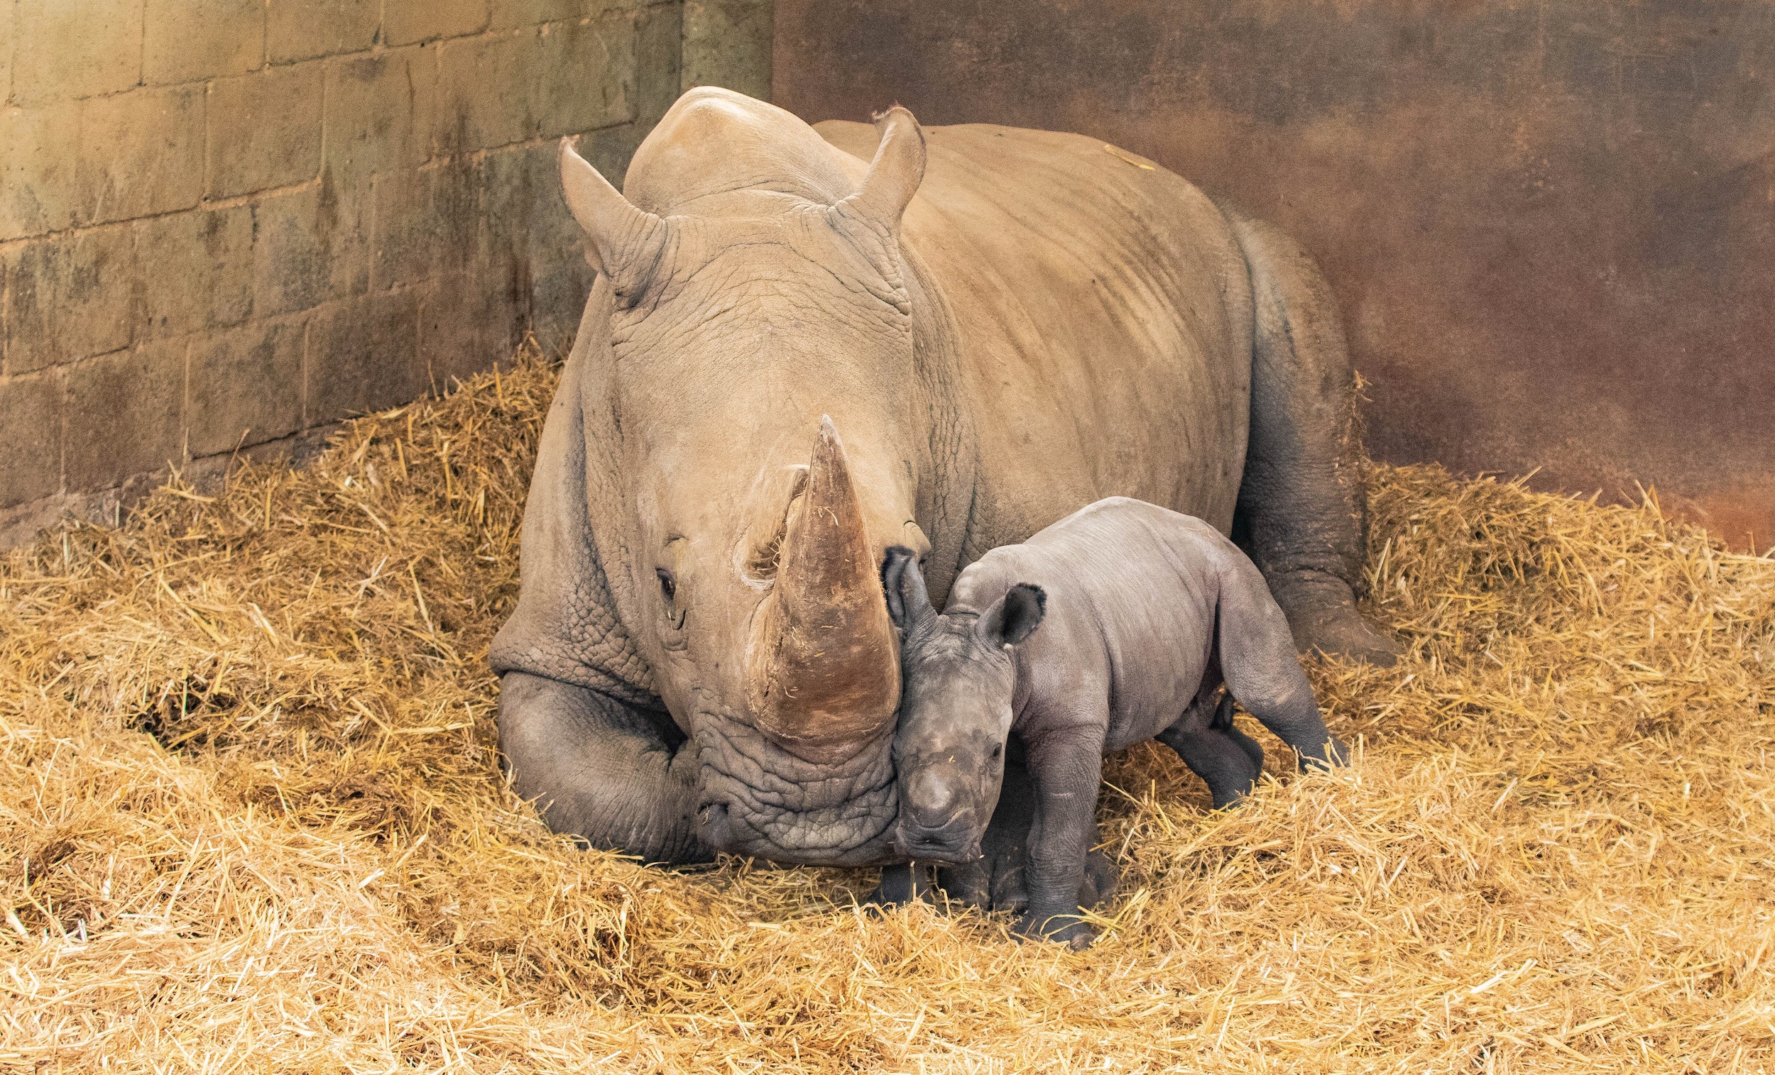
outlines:
[[[5,373],[27,373],[130,344],[131,229],[64,232],[0,248],[5,263]]]

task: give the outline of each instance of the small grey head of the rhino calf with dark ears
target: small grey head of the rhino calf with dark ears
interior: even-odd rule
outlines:
[[[909,548],[888,550],[882,587],[900,630],[895,851],[969,862],[980,857],[1005,777],[1017,688],[1012,651],[1040,626],[1045,594],[1017,584],[978,616],[939,614]]]

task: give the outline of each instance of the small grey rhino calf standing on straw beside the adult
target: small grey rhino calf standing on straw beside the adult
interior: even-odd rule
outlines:
[[[895,850],[912,860],[980,859],[1006,795],[1028,812],[1021,935],[1083,947],[1086,853],[1102,756],[1157,738],[1209,784],[1214,805],[1251,789],[1264,752],[1232,726],[1237,699],[1308,765],[1340,765],[1294,655],[1289,621],[1257,566],[1209,523],[1111,497],[994,548],[955,580],[937,614],[912,550],[882,564],[902,635],[895,733]],[[1040,628],[1040,632],[1037,632]],[[1216,706],[1221,685],[1227,697]],[[1012,740],[1015,736],[1015,740]],[[1017,745],[1028,781],[1005,784]],[[907,867],[884,894],[907,889]]]

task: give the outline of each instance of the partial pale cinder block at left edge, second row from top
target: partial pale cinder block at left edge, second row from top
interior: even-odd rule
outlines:
[[[0,108],[0,239],[60,231],[75,222],[78,133],[76,103]]]

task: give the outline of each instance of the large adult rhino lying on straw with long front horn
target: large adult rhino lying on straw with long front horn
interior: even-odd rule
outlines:
[[[1235,532],[1301,647],[1386,658],[1354,608],[1342,328],[1278,231],[1093,138],[809,128],[717,89],[623,193],[566,142],[561,179],[598,275],[492,647],[501,749],[556,830],[889,859],[884,550],[941,607],[1109,495]]]

